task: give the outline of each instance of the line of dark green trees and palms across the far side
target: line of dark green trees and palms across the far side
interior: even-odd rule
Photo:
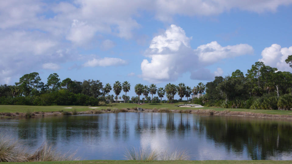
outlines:
[[[291,56],[286,62],[292,67]],[[292,108],[292,74],[278,71],[263,62],[255,62],[245,76],[242,71],[235,70],[231,76],[217,76],[214,81],[206,85],[200,82],[193,88],[184,83],[169,83],[159,88],[155,84],[136,84],[134,91],[137,96],[131,99],[127,96],[130,89],[128,81],[115,81],[113,86],[109,83],[103,86],[99,80],[80,82],[66,78],[61,81],[57,73],[50,74],[44,84],[39,73],[33,72],[20,77],[15,85],[0,85],[0,104],[98,105],[99,102],[118,102],[121,98],[124,103],[162,103],[162,98],[165,98],[164,102],[174,103],[186,97],[186,102],[222,108]],[[115,95],[109,95],[112,90]],[[124,94],[120,96],[122,91]],[[206,94],[202,96],[204,91]],[[158,96],[154,96],[156,94]],[[179,100],[174,99],[176,94]],[[190,98],[191,94],[200,94],[200,98]]]

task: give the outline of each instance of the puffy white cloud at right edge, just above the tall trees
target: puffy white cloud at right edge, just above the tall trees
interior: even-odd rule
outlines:
[[[289,55],[292,55],[292,46],[281,48],[278,44],[272,44],[262,50],[262,59],[259,61],[270,67],[276,67],[280,71],[291,71],[289,64],[285,62]]]

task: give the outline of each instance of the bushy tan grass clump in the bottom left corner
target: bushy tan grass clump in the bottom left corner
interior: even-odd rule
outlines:
[[[0,134],[0,162],[27,162],[26,154],[17,141]]]

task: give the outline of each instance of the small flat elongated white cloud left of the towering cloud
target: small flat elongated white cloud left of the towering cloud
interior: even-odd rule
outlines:
[[[126,65],[127,61],[120,58],[104,57],[102,59],[92,59],[83,64],[84,67],[107,67]]]

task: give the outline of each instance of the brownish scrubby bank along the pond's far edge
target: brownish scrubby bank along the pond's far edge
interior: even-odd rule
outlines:
[[[154,113],[193,113],[193,114],[207,114],[207,115],[222,115],[222,116],[240,116],[240,117],[253,117],[253,118],[276,118],[276,119],[292,119],[292,115],[283,115],[283,114],[263,114],[255,112],[246,112],[246,111],[215,111],[213,109],[182,109],[182,110],[169,110],[166,108],[161,109],[147,109],[143,108],[142,111],[137,111],[133,108],[127,109],[93,109],[88,111],[78,111],[73,114],[73,111],[51,111],[51,112],[32,112],[32,117],[44,117],[44,116],[60,116],[60,115],[78,115],[78,114],[103,114],[103,113],[119,113],[119,112],[154,112]],[[2,116],[2,117],[1,117]],[[26,117],[26,113],[20,112],[5,112],[0,113],[0,118],[15,118],[15,117]]]

